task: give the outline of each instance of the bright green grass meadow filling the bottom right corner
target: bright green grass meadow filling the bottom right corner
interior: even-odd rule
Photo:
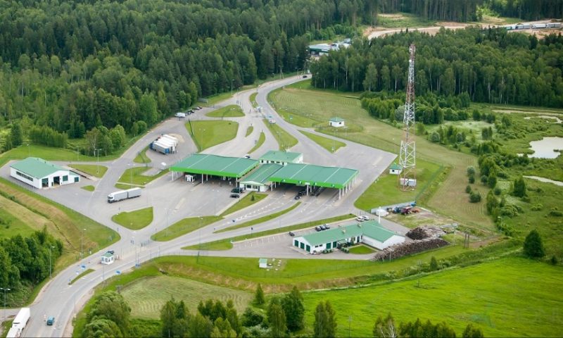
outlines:
[[[562,268],[522,258],[446,270],[418,280],[360,289],[306,292],[306,322],[314,308],[329,300],[336,309],[337,337],[371,337],[374,320],[391,312],[396,323],[429,319],[445,321],[461,335],[472,323],[485,337],[555,337],[563,316]],[[357,301],[350,301],[357,300]]]

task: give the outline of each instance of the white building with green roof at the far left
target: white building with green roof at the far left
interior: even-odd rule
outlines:
[[[80,175],[37,157],[11,164],[10,176],[37,189],[80,182]]]

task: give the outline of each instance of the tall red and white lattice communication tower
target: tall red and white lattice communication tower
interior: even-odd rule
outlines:
[[[416,148],[415,148],[415,45],[411,44],[409,58],[409,80],[407,84],[407,99],[405,100],[405,114],[403,115],[403,140],[400,142],[399,187],[406,191],[417,186]],[[412,132],[411,132],[412,129]]]

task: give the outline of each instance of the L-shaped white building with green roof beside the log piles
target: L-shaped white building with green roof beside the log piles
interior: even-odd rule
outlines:
[[[405,242],[405,237],[379,225],[377,220],[345,225],[334,229],[305,234],[293,238],[293,246],[308,253],[320,253],[328,249],[336,249],[339,244],[363,243],[383,250],[393,244]]]

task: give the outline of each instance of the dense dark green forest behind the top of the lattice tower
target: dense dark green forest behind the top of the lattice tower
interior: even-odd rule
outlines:
[[[312,63],[312,85],[343,91],[405,90],[408,46],[417,46],[417,95],[466,95],[472,101],[559,107],[563,105],[563,37],[543,39],[503,29],[442,29],[431,36],[403,32],[356,40]]]

